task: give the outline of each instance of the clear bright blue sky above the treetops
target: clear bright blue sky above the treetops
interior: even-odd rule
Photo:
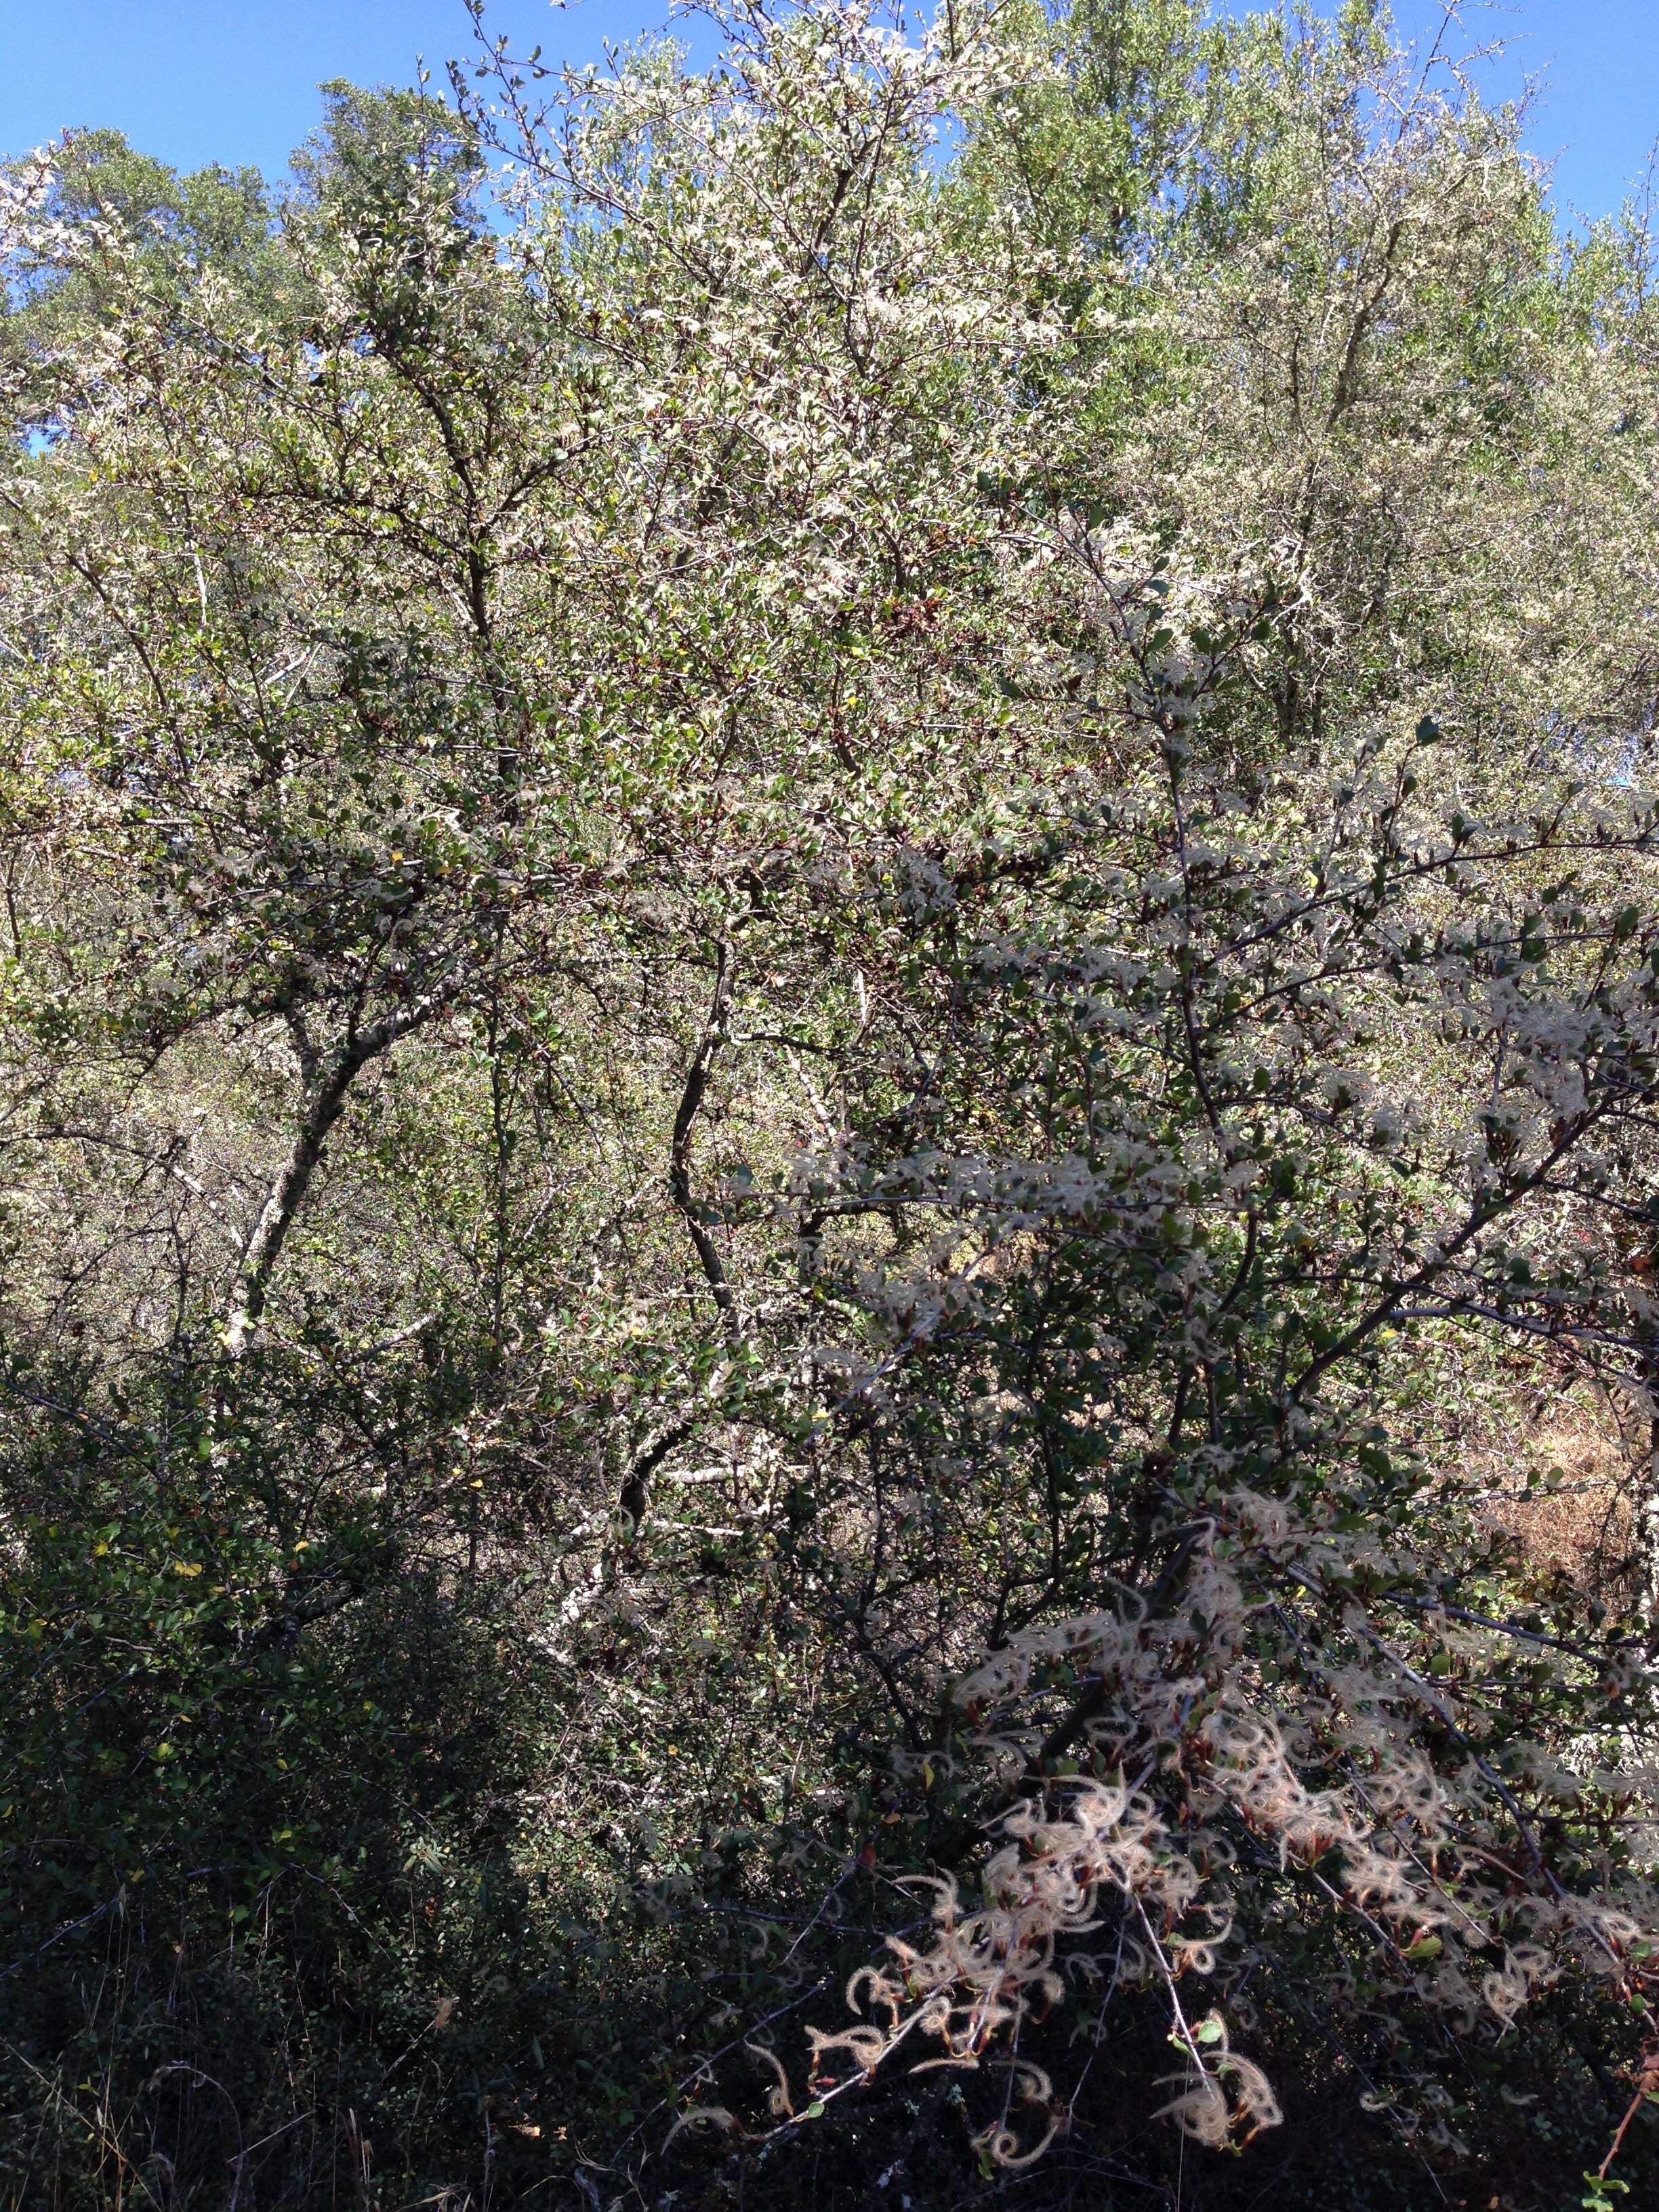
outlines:
[[[1241,11],[1248,0],[1230,0]],[[668,0],[491,0],[489,20],[560,60],[661,24]],[[1440,0],[1396,0],[1405,35]],[[1619,206],[1659,137],[1659,0],[1509,0],[1464,7],[1467,42],[1502,35],[1502,91],[1542,77],[1533,150],[1579,215]],[[181,168],[254,161],[281,173],[319,115],[323,77],[407,82],[469,38],[460,0],[0,0],[0,148],[66,124],[115,124]]]

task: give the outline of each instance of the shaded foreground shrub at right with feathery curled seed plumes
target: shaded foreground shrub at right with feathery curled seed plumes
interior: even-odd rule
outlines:
[[[991,1836],[814,2031],[814,2090],[995,2064],[1009,2163],[1066,2110],[1020,2028],[1079,1978],[1108,2024],[1164,1989],[1188,2132],[1276,2121],[1234,2037],[1316,1916],[1332,2033],[1498,2037],[1588,1978],[1637,2055],[1652,1995],[1650,1624],[1520,1604],[1447,1418],[1506,1345],[1646,1398],[1652,803],[1568,772],[1475,818],[1433,726],[1245,799],[1197,765],[1225,641],[1150,644],[1161,582],[1099,580],[1161,759],[894,854],[929,1044],[865,1062],[790,1199],[894,1765],[967,1778]]]

